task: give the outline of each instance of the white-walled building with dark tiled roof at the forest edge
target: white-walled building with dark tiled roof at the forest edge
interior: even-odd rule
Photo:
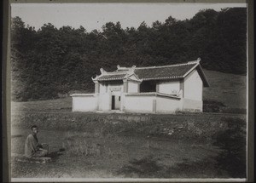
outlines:
[[[203,87],[209,87],[200,60],[171,66],[101,69],[92,78],[94,94],[71,94],[73,112],[202,112]]]

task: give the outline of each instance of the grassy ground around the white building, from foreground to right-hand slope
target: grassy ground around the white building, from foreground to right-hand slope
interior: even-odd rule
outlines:
[[[206,71],[204,99],[245,108],[245,77]],[[71,112],[72,99],[12,102],[11,152],[22,154],[29,127],[49,144],[53,162],[12,161],[12,177],[228,178],[215,136],[242,114],[100,114]],[[243,129],[245,130],[245,128]],[[231,134],[230,134],[231,135]],[[228,137],[229,138],[229,137]],[[232,143],[232,142],[231,142]],[[238,143],[238,142],[237,142]],[[61,154],[57,153],[61,151]],[[242,152],[245,154],[245,152]],[[235,172],[236,173],[236,172]]]

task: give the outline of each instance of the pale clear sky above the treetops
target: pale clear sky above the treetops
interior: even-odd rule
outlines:
[[[26,25],[38,30],[51,23],[60,28],[84,26],[86,31],[102,31],[107,22],[120,22],[122,28],[137,28],[164,22],[170,15],[177,20],[191,19],[201,9],[247,7],[246,3],[12,3],[11,16],[19,16]]]

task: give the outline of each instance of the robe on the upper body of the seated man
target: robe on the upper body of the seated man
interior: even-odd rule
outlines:
[[[36,135],[29,134],[26,137],[25,143],[25,156],[32,157],[35,152],[39,150],[40,144],[38,143],[38,138]]]

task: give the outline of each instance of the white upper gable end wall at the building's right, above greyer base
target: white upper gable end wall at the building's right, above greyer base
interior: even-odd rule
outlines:
[[[184,98],[190,100],[202,100],[203,83],[198,72],[192,71],[184,79]]]

